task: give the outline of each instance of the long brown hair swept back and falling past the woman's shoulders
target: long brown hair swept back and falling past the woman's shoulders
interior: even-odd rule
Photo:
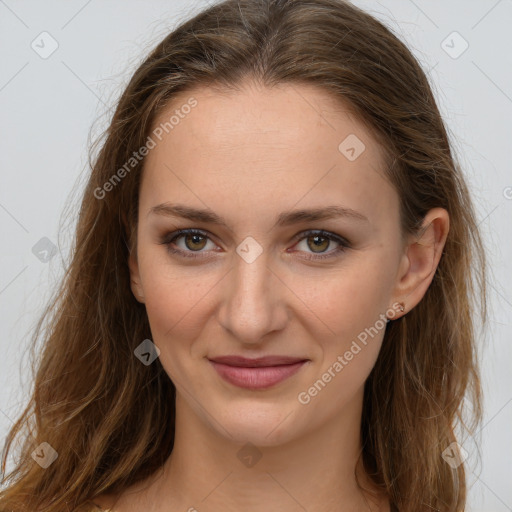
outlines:
[[[4,472],[13,441],[23,443],[1,512],[89,510],[89,500],[148,477],[170,455],[174,385],[158,359],[145,366],[134,357],[151,339],[127,265],[144,160],[109,180],[178,92],[235,89],[247,77],[267,87],[314,84],[353,107],[388,152],[403,235],[417,233],[429,209],[448,211],[433,281],[388,324],[366,382],[362,460],[401,512],[464,510],[465,465],[452,468],[442,453],[456,424],[471,431],[481,420],[474,322],[486,324],[486,257],[429,81],[390,29],[346,1],[225,0],[165,37],[117,104],[92,162],[71,263],[34,335],[43,348],[30,401],[6,439]],[[43,442],[58,453],[46,469],[31,457]]]

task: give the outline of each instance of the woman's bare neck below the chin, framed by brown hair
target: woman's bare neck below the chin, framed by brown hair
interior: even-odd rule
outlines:
[[[151,487],[151,502],[168,512],[387,511],[385,498],[361,488],[372,489],[359,457],[361,411],[362,389],[320,430],[254,446],[205,424],[178,393],[174,449]]]

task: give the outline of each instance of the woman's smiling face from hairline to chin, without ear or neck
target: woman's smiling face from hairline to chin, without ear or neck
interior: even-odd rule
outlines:
[[[181,403],[260,446],[357,410],[398,317],[399,198],[382,148],[304,85],[197,88],[153,133],[130,270]],[[299,362],[211,362],[229,355]]]

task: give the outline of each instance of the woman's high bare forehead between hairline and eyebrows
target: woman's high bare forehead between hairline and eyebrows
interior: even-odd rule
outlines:
[[[347,105],[314,86],[198,87],[173,98],[155,130],[141,192],[147,206],[185,195],[195,206],[231,205],[238,217],[244,206],[254,216],[299,201],[368,217],[397,209],[382,146]]]

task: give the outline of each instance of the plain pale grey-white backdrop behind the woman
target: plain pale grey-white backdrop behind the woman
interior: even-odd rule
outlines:
[[[492,267],[492,311],[482,352],[480,463],[475,446],[464,445],[475,459],[468,510],[512,511],[512,1],[355,3],[391,27],[429,73],[473,192]],[[31,329],[67,257],[74,218],[63,212],[67,201],[78,204],[79,194],[70,194],[86,177],[88,140],[106,127],[145,53],[205,5],[0,0],[2,440],[26,399]],[[46,59],[31,48],[43,31],[58,43]],[[457,58],[465,43],[454,31],[469,45]],[[59,248],[49,263],[32,252],[43,237]]]

